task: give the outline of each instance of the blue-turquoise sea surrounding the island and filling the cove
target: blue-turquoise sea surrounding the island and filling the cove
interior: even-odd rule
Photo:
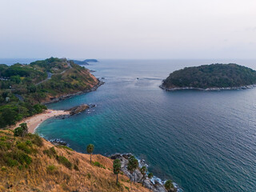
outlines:
[[[184,191],[256,191],[256,89],[226,91],[158,88],[184,66],[254,61],[104,60],[87,66],[105,78],[97,91],[50,104],[56,110],[97,106],[66,119],[48,119],[36,130],[80,152],[130,152],[149,170]],[[138,79],[137,79],[138,78]]]

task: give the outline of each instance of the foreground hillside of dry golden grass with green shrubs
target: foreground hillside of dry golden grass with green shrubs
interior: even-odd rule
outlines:
[[[37,135],[21,138],[10,130],[1,130],[0,192],[149,191],[142,184],[130,183],[122,174],[117,186],[110,158],[93,154],[92,161],[94,164],[90,164],[89,154],[54,146]]]

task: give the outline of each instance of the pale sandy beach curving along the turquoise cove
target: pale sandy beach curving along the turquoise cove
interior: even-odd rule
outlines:
[[[26,125],[29,128],[29,133],[34,133],[34,130],[46,119],[57,117],[62,114],[70,114],[68,111],[64,110],[45,110],[42,114],[35,114],[32,117],[23,119],[21,122],[17,122],[15,126],[12,127],[12,129],[15,129],[21,124],[22,122],[26,122]]]

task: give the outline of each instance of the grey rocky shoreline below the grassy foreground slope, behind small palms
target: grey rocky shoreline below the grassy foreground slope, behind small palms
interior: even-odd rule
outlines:
[[[109,156],[111,159],[120,159],[121,162],[121,171],[123,174],[125,174],[128,178],[134,178],[134,182],[142,182],[143,175],[140,172],[139,169],[134,170],[134,174],[131,174],[129,170],[127,170],[127,165],[128,165],[128,159],[132,156],[133,154],[112,154]],[[145,162],[141,161],[140,166],[146,166]],[[152,181],[150,178],[147,177],[144,180],[144,186],[154,192],[166,192],[166,188],[163,185],[163,183],[157,182],[157,181]],[[173,188],[170,190],[171,192],[177,191],[177,188]]]

